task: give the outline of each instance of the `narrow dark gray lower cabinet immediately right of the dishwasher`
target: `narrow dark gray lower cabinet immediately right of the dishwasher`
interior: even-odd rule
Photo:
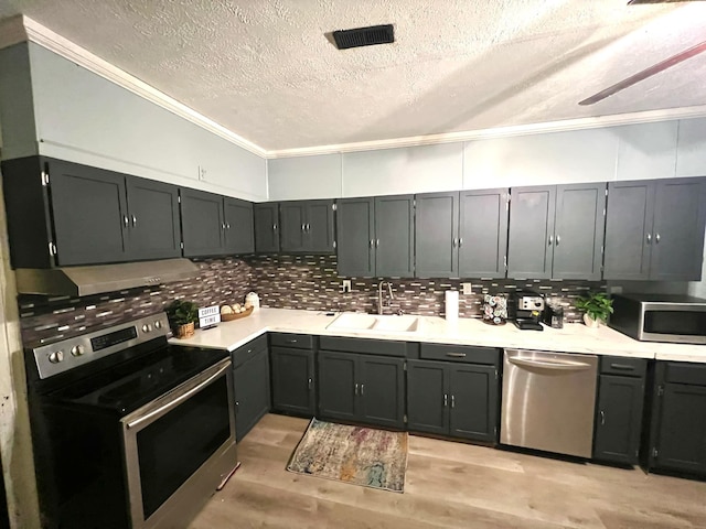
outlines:
[[[601,357],[593,458],[638,464],[645,373],[644,359]]]

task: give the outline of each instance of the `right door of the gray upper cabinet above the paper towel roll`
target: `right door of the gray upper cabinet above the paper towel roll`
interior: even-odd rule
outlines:
[[[506,187],[460,193],[458,245],[461,278],[505,277],[509,193]]]

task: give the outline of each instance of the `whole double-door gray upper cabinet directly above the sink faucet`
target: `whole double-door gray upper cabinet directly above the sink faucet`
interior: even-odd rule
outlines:
[[[382,196],[338,201],[339,274],[414,274],[414,197]]]

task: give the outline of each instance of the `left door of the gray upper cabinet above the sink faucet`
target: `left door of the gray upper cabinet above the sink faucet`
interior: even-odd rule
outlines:
[[[339,274],[375,276],[375,201],[343,198],[336,207]]]

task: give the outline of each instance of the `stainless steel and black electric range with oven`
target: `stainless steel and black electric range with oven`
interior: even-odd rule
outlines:
[[[165,314],[25,350],[45,528],[185,527],[237,465],[228,353]]]

